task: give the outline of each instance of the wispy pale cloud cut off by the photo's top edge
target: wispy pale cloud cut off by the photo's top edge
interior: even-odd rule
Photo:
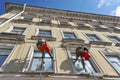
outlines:
[[[101,8],[103,6],[111,6],[112,4],[117,3],[120,3],[120,0],[99,0],[97,7]]]

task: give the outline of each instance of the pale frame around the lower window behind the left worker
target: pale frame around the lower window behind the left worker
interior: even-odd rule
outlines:
[[[52,65],[53,65],[53,71],[43,71],[43,70],[38,70],[38,71],[31,71],[30,68],[31,68],[31,65],[32,65],[32,60],[33,60],[33,54],[34,54],[34,51],[38,51],[36,47],[34,46],[30,46],[29,48],[29,51],[28,51],[28,55],[27,55],[27,58],[26,58],[26,61],[25,61],[25,64],[24,64],[24,67],[23,67],[23,70],[22,72],[34,72],[34,73],[39,73],[39,72],[42,72],[42,73],[56,73],[57,72],[57,68],[56,68],[56,53],[55,53],[55,48],[52,48],[53,50],[53,56],[54,56],[54,59],[52,60]]]

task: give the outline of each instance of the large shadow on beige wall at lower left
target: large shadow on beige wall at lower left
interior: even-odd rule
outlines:
[[[5,65],[5,72],[22,72],[24,60],[14,59]]]

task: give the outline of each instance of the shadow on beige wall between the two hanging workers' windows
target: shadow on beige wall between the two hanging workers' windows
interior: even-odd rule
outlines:
[[[60,69],[64,70],[65,72],[67,71],[69,73],[74,73],[71,60],[69,58],[67,58],[66,60],[62,62],[62,64],[60,65]]]

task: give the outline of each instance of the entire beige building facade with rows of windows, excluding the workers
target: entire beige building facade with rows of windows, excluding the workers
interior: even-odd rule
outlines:
[[[54,59],[36,47],[45,39]],[[91,58],[76,63],[84,44]],[[0,16],[1,80],[120,80],[120,18],[6,3]]]

